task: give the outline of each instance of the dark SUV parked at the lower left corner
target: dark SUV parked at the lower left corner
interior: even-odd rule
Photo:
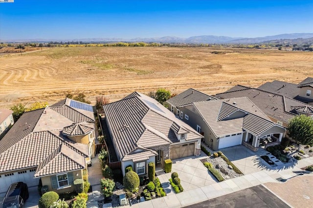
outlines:
[[[28,187],[23,182],[11,184],[2,202],[2,208],[23,208],[28,199]]]

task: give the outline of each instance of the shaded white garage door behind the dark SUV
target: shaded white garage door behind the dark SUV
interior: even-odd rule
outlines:
[[[24,182],[28,187],[38,186],[39,178],[34,178],[35,169],[0,175],[0,193],[6,192],[9,186],[16,182]]]

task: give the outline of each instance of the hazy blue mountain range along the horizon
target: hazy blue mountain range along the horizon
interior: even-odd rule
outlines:
[[[313,33],[291,33],[280,34],[274,36],[258,37],[258,38],[232,38],[227,36],[192,36],[189,38],[179,38],[175,36],[165,36],[161,38],[134,38],[134,39],[120,39],[120,38],[89,38],[89,39],[29,39],[29,40],[0,40],[0,42],[161,42],[161,43],[265,43],[279,40],[294,40],[294,39],[308,39],[310,42],[313,38]],[[312,41],[311,41],[312,42]]]

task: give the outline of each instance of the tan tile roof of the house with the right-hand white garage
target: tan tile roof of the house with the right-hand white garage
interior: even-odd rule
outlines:
[[[210,126],[217,137],[241,133],[243,130],[258,136],[269,127],[275,125],[265,115],[261,117],[259,116],[261,115],[260,113],[259,115],[253,114],[253,112],[255,112],[254,110],[249,112],[237,107],[237,103],[240,103],[240,101],[245,103],[247,101],[247,104],[249,103],[249,99],[237,98],[235,100],[236,104],[226,103],[225,100],[217,100],[210,102],[196,102],[193,103],[193,105],[196,107],[202,118]],[[230,99],[230,102],[234,101]],[[242,106],[245,106],[245,104],[242,104]],[[251,107],[246,107],[246,109],[251,110]],[[259,111],[256,106],[254,106],[254,109]],[[224,112],[221,116],[222,111]],[[236,111],[239,113],[236,115],[232,114]],[[222,119],[219,119],[219,117]]]

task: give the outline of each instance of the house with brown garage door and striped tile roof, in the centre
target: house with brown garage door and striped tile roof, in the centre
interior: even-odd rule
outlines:
[[[200,155],[201,134],[153,98],[134,92],[103,109],[123,175],[127,166],[145,175],[149,162]]]

